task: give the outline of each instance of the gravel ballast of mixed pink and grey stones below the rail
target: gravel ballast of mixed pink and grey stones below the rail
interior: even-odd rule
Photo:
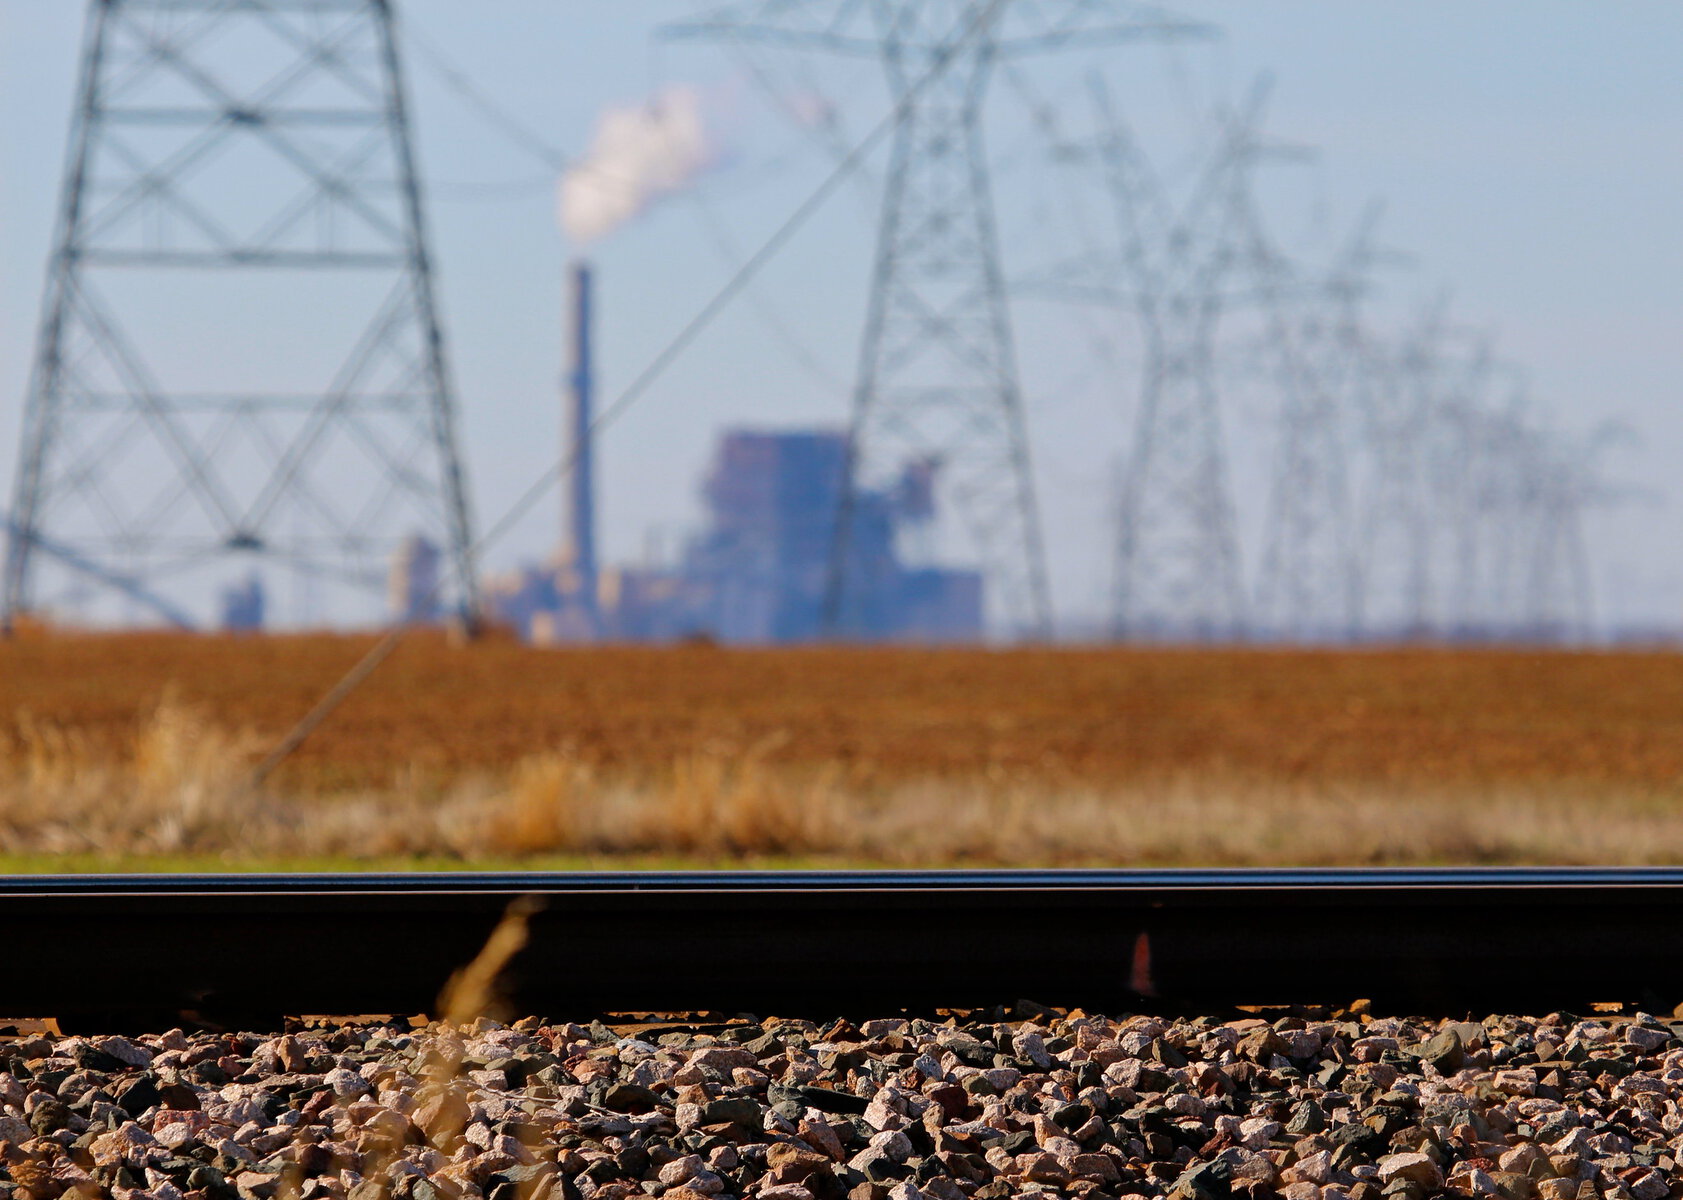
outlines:
[[[1043,1012],[25,1037],[0,1040],[0,1200],[1683,1198],[1680,1030]]]

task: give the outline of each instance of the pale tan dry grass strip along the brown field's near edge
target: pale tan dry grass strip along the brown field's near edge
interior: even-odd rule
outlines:
[[[890,865],[1683,862],[1683,801],[1181,774],[1045,788],[980,776],[853,789],[840,773],[692,754],[616,778],[565,754],[434,793],[259,794],[257,746],[160,707],[130,764],[62,730],[0,754],[0,853],[327,857],[808,857]]]

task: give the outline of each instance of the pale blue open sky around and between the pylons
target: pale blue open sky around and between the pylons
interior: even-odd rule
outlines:
[[[411,52],[419,162],[481,525],[557,453],[567,263],[587,252],[599,271],[599,360],[611,399],[835,163],[835,151],[789,121],[739,56],[653,35],[697,7],[402,5],[424,44],[562,153],[584,153],[604,111],[675,88],[698,98],[710,146],[693,187],[589,246],[571,244],[555,219],[552,167],[493,128],[429,56]],[[1222,35],[1074,54],[1035,64],[1030,82],[1080,128],[1087,72],[1101,69],[1173,175],[1193,162],[1207,128],[1193,114],[1271,76],[1269,130],[1314,150],[1267,183],[1281,241],[1309,258],[1326,254],[1370,200],[1382,200],[1382,241],[1400,254],[1375,281],[1375,320],[1402,328],[1449,295],[1452,318],[1495,338],[1553,426],[1587,434],[1622,422],[1631,436],[1599,459],[1621,491],[1590,517],[1597,618],[1604,626],[1678,623],[1683,539],[1671,465],[1683,459],[1683,10],[1675,0],[1190,0],[1178,12]],[[81,22],[82,7],[71,0],[0,0],[0,111],[12,118],[0,125],[3,496]],[[796,108],[833,104],[855,136],[887,108],[870,64],[764,62]],[[995,91],[1006,269],[1030,278],[1079,252],[1079,205],[1067,204],[1067,177],[1049,165],[1022,104],[1010,89]],[[722,426],[845,422],[880,177],[879,158],[604,434],[604,559],[675,554],[697,525],[700,478]],[[1101,192],[1082,204],[1087,219],[1106,220]],[[1055,606],[1065,624],[1082,626],[1101,618],[1112,581],[1138,345],[1111,311],[1077,313],[1027,295],[1015,310]],[[1235,396],[1224,421],[1254,574],[1269,414]],[[544,557],[557,510],[552,496],[517,522],[486,564]],[[964,555],[958,542],[941,549]]]

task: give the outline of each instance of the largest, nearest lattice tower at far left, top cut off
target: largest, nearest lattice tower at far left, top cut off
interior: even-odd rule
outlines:
[[[231,555],[379,594],[416,532],[471,613],[390,0],[91,0],[5,614],[44,545],[177,594]]]

